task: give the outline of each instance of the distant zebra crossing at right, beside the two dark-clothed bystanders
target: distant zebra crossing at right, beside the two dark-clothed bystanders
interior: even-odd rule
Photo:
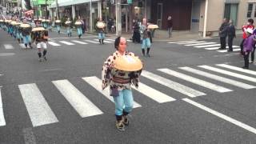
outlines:
[[[218,50],[220,48],[220,44],[217,42],[205,42],[205,41],[176,41],[176,42],[167,42],[169,44],[177,44],[183,46],[192,46],[197,49],[205,49],[205,50],[216,50],[219,53],[226,53],[229,46],[226,46],[227,50]],[[239,51],[240,46],[233,46],[233,51]]]

